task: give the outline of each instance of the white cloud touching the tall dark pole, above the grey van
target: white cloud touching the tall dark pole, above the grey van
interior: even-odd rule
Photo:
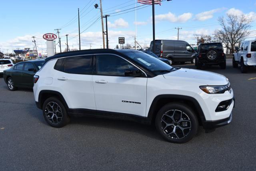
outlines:
[[[192,18],[192,13],[184,13],[180,16],[176,16],[175,14],[172,14],[171,12],[168,12],[167,14],[159,14],[155,16],[156,22],[158,21],[169,21],[169,22],[186,22],[190,18]]]

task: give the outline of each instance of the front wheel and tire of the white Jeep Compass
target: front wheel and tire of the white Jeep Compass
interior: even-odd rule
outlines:
[[[156,129],[169,142],[186,143],[198,131],[194,111],[181,103],[168,103],[156,115]]]

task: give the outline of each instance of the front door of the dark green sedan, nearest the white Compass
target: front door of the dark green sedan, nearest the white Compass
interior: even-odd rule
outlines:
[[[29,69],[34,69],[34,71],[29,71]],[[33,77],[35,75],[36,68],[30,62],[26,62],[24,66],[24,70],[22,71],[22,85],[26,87],[33,87]]]

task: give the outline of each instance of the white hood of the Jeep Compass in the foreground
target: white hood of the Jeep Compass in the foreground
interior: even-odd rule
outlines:
[[[179,79],[186,82],[198,82],[202,85],[228,84],[228,79],[220,74],[187,68],[180,68],[179,70],[164,74],[163,76],[170,80]]]

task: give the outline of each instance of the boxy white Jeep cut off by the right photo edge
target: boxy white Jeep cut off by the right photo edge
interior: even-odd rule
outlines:
[[[249,67],[256,67],[256,40],[241,42],[236,51],[233,54],[234,68],[237,68],[238,64],[240,64],[241,72],[246,73]]]

